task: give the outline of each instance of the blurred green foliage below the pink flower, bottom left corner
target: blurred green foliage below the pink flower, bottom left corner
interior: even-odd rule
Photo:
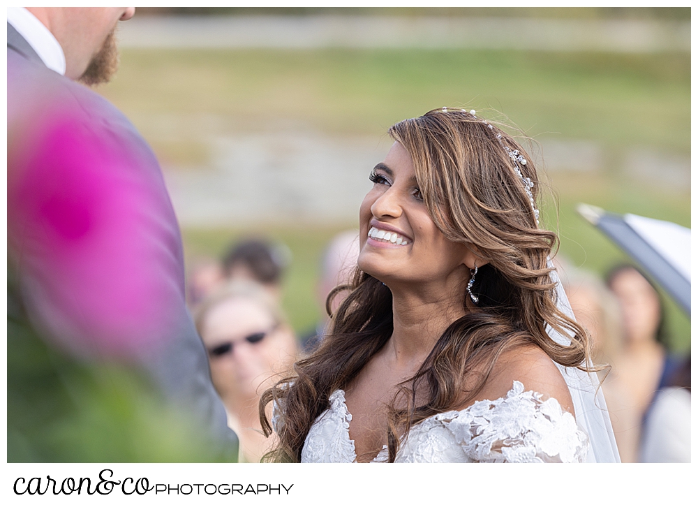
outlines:
[[[29,324],[11,271],[8,462],[235,462],[135,367],[76,360]]]

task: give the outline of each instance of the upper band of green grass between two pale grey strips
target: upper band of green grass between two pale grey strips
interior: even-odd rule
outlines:
[[[215,114],[248,129],[292,119],[380,135],[467,104],[500,110],[531,136],[690,152],[690,54],[124,50],[121,60],[103,92],[138,117]]]

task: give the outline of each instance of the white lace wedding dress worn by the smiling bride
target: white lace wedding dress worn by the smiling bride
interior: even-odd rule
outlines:
[[[355,461],[350,421],[344,391],[338,389],[329,397],[329,409],[315,419],[301,462]],[[413,426],[395,462],[584,462],[588,448],[588,437],[557,400],[543,401],[514,381],[506,397],[439,413]],[[386,446],[373,462],[385,461]]]

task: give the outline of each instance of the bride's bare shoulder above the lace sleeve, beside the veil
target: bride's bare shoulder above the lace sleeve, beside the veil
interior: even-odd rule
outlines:
[[[540,347],[530,344],[504,351],[484,388],[477,395],[477,400],[494,400],[506,396],[514,381],[523,383],[526,391],[540,393],[542,400],[555,398],[564,411],[574,414],[572,396],[565,378]]]

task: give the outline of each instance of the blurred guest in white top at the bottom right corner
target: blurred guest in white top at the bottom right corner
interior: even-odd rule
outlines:
[[[691,462],[691,359],[659,390],[647,414],[640,461]]]

